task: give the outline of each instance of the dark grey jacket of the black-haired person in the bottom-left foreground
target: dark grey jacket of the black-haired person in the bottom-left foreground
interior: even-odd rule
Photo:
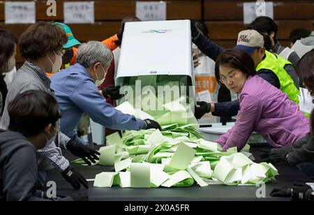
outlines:
[[[0,200],[48,200],[39,197],[36,148],[27,138],[21,133],[0,131],[0,151]]]

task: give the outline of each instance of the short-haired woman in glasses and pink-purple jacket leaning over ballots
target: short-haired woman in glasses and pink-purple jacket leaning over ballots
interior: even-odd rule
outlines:
[[[234,126],[216,142],[223,151],[240,151],[253,131],[280,148],[303,138],[310,130],[306,116],[286,94],[256,75],[253,59],[241,50],[225,50],[216,61],[220,82],[236,92],[240,110]]]

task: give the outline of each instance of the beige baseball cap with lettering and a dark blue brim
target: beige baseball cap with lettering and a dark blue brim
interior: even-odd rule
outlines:
[[[241,31],[238,34],[237,45],[234,46],[236,50],[243,50],[248,54],[252,53],[257,47],[264,45],[264,38],[262,34],[253,29]]]

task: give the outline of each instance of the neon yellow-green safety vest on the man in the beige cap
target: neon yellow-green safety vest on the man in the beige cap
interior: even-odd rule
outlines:
[[[284,66],[287,64],[291,64],[289,61],[283,59],[282,57],[273,54],[271,52],[265,51],[266,57],[265,59],[257,65],[256,71],[260,69],[268,69],[273,71],[281,84],[281,91],[287,94],[291,101],[299,104],[299,94],[300,91],[295,87],[294,82],[290,75],[285,71]]]

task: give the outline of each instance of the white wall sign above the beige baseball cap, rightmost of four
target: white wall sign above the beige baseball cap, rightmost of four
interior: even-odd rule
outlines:
[[[257,0],[243,3],[244,24],[250,24],[256,17],[264,15],[274,20],[274,3],[272,1]]]

